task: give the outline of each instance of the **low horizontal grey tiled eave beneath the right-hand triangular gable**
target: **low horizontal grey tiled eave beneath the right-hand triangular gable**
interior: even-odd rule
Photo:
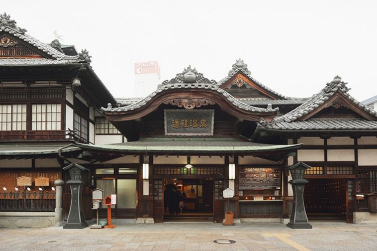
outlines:
[[[264,128],[273,130],[377,130],[377,121],[361,118],[313,118],[305,121],[273,121]]]

